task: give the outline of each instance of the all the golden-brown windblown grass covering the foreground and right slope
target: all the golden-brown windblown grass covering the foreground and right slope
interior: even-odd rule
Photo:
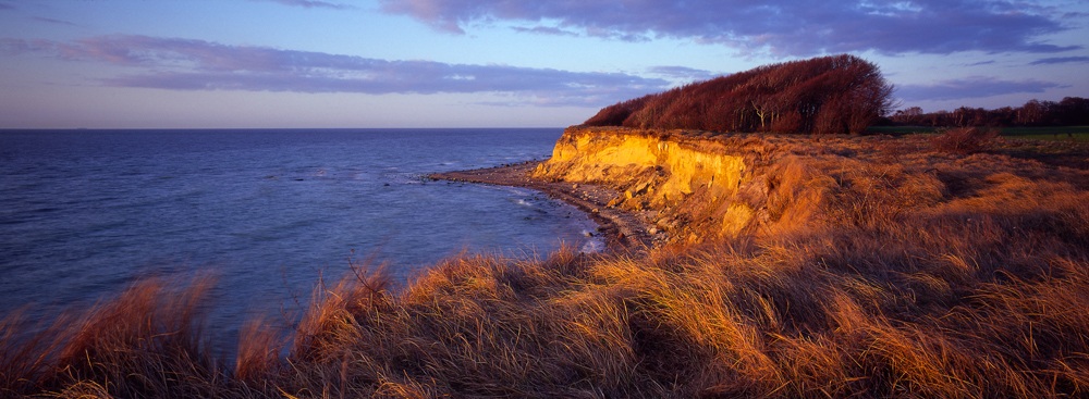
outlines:
[[[318,287],[296,325],[249,323],[234,364],[210,359],[198,328],[209,280],[147,279],[38,334],[8,317],[0,391],[1089,395],[1089,174],[926,144],[825,141],[784,158],[773,223],[737,239],[464,255],[396,290],[356,267]]]

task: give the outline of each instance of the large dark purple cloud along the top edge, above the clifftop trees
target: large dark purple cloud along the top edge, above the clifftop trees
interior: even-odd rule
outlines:
[[[1053,53],[1039,38],[1067,30],[1051,9],[987,0],[379,0],[387,13],[464,34],[476,22],[555,22],[564,30],[621,40],[690,39],[746,52],[813,55],[960,51]]]

